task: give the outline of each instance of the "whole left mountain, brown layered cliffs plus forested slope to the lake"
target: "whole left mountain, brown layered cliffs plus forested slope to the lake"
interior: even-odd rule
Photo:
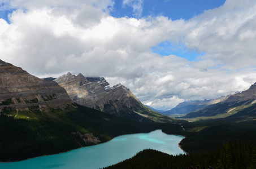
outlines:
[[[0,60],[0,162],[67,152],[166,123],[130,121],[74,103],[57,82]]]

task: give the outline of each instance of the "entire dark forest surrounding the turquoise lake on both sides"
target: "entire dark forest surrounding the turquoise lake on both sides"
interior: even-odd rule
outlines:
[[[81,137],[85,134],[93,134],[100,143],[104,143],[119,135],[162,129],[166,134],[185,136],[180,146],[186,154],[173,156],[155,150],[144,150],[111,168],[182,168],[184,165],[207,167],[209,164],[215,169],[256,166],[255,121],[176,121],[172,124],[136,122],[76,106],[78,109],[72,106],[64,112],[56,109],[44,116],[30,112],[29,119],[1,115],[0,161],[20,161],[97,144],[86,143]],[[29,112],[23,113],[28,115]]]

